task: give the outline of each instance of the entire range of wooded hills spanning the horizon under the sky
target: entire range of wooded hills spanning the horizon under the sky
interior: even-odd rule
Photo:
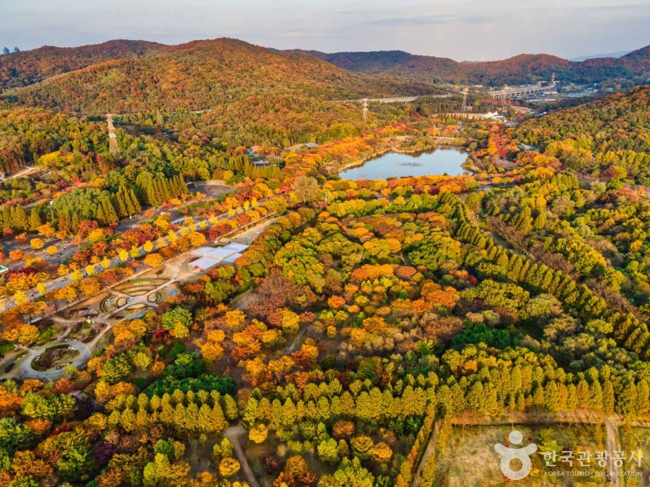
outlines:
[[[45,46],[0,57],[0,104],[85,113],[203,111],[251,96],[331,101],[419,95],[440,92],[434,84],[523,84],[553,73],[584,84],[642,84],[650,79],[650,46],[618,59],[579,62],[545,54],[458,62],[402,50],[282,51],[236,39]]]

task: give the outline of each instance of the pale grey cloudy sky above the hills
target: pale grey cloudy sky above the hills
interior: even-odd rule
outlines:
[[[650,0],[0,0],[0,46],[234,37],[278,49],[405,50],[458,61],[650,44]]]

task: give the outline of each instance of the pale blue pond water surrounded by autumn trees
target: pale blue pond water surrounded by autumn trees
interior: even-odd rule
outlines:
[[[339,173],[341,179],[387,179],[409,176],[461,175],[467,152],[460,147],[440,147],[434,151],[402,154],[389,152],[369,159],[362,166]]]

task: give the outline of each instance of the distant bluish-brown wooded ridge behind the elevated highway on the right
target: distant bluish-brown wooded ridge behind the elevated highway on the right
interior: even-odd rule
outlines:
[[[461,63],[443,57],[412,55],[400,50],[332,54],[305,52],[355,73],[401,75],[434,83],[499,86],[505,83],[522,84],[548,80],[553,73],[556,73],[557,79],[569,82],[628,80],[641,83],[650,76],[650,46],[630,52],[619,59],[606,57],[579,62],[545,54],[523,54],[502,61]]]

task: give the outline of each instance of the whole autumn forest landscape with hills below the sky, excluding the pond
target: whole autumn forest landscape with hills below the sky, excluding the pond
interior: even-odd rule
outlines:
[[[523,486],[650,455],[647,48],[402,54],[0,57],[0,487],[501,486],[517,428]],[[556,70],[600,96],[458,108]],[[340,175],[449,147],[461,175]]]

